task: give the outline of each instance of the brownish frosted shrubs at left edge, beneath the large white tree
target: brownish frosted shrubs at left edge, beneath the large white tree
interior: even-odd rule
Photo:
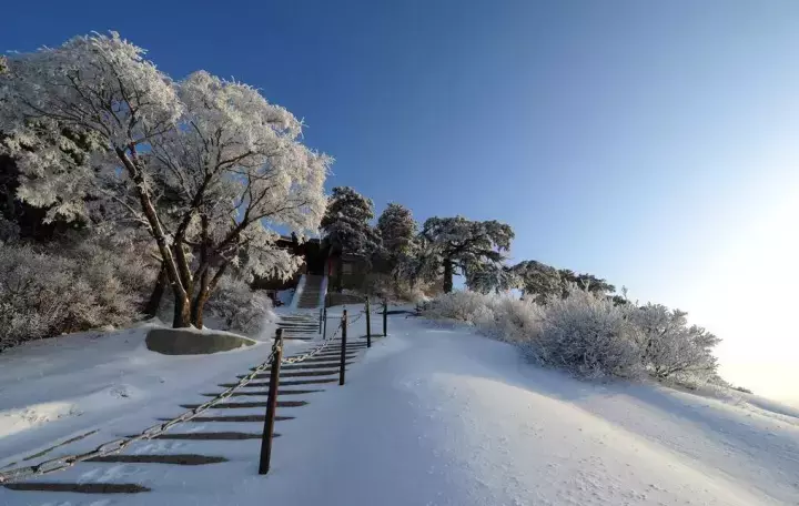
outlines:
[[[130,323],[138,315],[142,286],[130,284],[125,277],[135,269],[140,279],[149,272],[135,262],[134,253],[103,250],[91,242],[48,250],[22,243],[3,245],[0,350],[62,333]]]

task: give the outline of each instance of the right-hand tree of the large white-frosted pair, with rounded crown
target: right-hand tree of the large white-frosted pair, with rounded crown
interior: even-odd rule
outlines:
[[[318,226],[331,159],[297,142],[300,121],[251,87],[201,71],[179,83],[178,94],[185,128],[152,145],[151,165],[180,210],[175,257],[193,294],[192,323],[202,326],[203,306],[229,266],[249,279],[296,271],[302,259],[275,246],[280,235],[270,225],[303,235]]]

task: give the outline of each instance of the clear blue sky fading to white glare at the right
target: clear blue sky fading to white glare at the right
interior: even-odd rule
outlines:
[[[16,1],[0,49],[117,30],[261,88],[332,185],[513,225],[689,311],[722,374],[799,399],[799,2]]]

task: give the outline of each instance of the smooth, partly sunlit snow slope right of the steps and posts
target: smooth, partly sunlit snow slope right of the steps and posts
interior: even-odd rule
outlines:
[[[586,384],[467,331],[392,324],[341,395],[311,406],[323,428],[283,431],[281,446],[303,443],[277,448],[263,487],[276,503],[799,504],[797,418]]]

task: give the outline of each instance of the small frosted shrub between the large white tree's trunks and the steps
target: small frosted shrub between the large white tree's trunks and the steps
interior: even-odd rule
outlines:
[[[266,292],[253,291],[239,277],[225,275],[216,285],[205,311],[219,318],[225,331],[256,333],[265,320],[274,320]]]

